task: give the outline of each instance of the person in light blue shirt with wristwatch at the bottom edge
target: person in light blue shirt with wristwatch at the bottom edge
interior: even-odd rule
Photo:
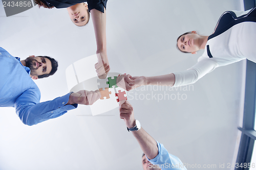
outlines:
[[[140,144],[141,150],[145,153],[142,156],[142,166],[144,170],[186,170],[181,160],[168,153],[163,144],[156,141],[153,137],[141,128],[138,120],[134,118],[133,106],[125,101],[120,102],[120,118],[124,119],[127,130],[132,131],[134,137]]]

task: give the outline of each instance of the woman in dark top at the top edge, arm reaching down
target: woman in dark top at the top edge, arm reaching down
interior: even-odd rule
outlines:
[[[108,0],[34,0],[39,7],[67,8],[70,18],[77,26],[88,23],[91,12],[95,38],[97,43],[98,63],[95,69],[100,79],[106,78],[110,71],[108,56],[106,55],[106,3]]]

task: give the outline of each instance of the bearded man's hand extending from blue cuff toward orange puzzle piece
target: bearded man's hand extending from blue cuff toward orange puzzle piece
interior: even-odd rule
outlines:
[[[80,90],[76,93],[72,93],[69,96],[69,102],[67,105],[81,104],[81,105],[92,105],[101,97],[100,91],[88,91]]]

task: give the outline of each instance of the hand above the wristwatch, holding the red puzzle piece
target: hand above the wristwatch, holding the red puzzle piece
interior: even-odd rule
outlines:
[[[124,120],[126,126],[128,128],[133,128],[135,126],[133,106],[128,101],[125,101],[124,103],[119,104],[119,111],[120,111],[120,118]]]

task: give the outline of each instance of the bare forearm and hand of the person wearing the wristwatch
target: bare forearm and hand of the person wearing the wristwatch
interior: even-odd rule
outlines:
[[[133,106],[129,102],[125,101],[123,104],[120,104],[119,110],[120,118],[124,119],[126,126],[128,128],[133,128],[135,126]],[[132,133],[140,144],[141,150],[149,159],[153,159],[158,155],[156,140],[146,133],[143,128],[138,131],[133,131]]]

